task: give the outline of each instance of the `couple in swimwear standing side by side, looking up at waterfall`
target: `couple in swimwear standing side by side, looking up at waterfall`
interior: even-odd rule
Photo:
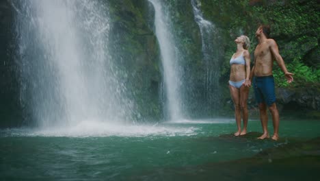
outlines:
[[[269,138],[267,130],[267,109],[271,112],[274,125],[274,140],[279,138],[279,113],[276,107],[276,95],[274,88],[274,77],[272,75],[272,67],[274,60],[283,71],[288,83],[293,82],[293,73],[286,70],[286,66],[279,54],[278,45],[275,40],[269,38],[270,28],[261,25],[256,30],[258,45],[254,51],[254,66],[250,71],[250,53],[248,48],[250,40],[248,36],[239,36],[235,43],[237,44],[237,52],[233,54],[230,60],[230,80],[229,88],[232,101],[235,104],[235,119],[237,123],[237,132],[235,136],[247,133],[248,125],[248,108],[247,99],[251,82],[254,86],[254,95],[259,107],[261,124],[263,127],[263,135],[259,139]],[[253,78],[253,80],[252,80]],[[243,129],[241,131],[241,113],[243,119]]]

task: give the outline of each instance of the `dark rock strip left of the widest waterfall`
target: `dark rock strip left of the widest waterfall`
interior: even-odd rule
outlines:
[[[21,125],[23,120],[14,62],[13,22],[10,1],[0,1],[0,126]]]

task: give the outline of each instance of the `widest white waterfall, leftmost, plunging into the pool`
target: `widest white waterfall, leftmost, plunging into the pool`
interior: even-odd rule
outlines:
[[[108,53],[103,1],[16,0],[21,104],[40,127],[126,121],[133,101]]]

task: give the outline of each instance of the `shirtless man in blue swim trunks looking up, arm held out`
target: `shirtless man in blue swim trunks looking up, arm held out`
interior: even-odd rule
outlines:
[[[263,135],[259,139],[269,138],[267,130],[267,108],[272,115],[274,125],[274,135],[272,139],[277,141],[279,138],[279,112],[276,106],[276,95],[274,88],[274,77],[272,75],[272,67],[274,60],[283,71],[288,83],[293,82],[293,73],[286,70],[286,65],[279,54],[278,45],[275,40],[269,38],[270,28],[261,25],[256,30],[256,37],[259,44],[254,51],[254,67],[252,67],[251,78],[254,76],[254,94],[258,102],[261,124],[263,127]]]

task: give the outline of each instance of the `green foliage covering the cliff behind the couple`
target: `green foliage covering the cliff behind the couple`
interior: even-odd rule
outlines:
[[[252,42],[249,51],[253,54],[257,45],[254,33],[259,24],[271,26],[271,38],[277,41],[287,69],[295,73],[294,86],[319,82],[319,62],[308,59],[308,54],[319,51],[320,12],[317,1],[202,0],[201,3],[205,18],[224,29],[222,82],[230,73],[227,62],[235,51],[233,40],[241,34],[247,35]],[[288,86],[278,66],[275,66],[274,76],[277,86]]]

